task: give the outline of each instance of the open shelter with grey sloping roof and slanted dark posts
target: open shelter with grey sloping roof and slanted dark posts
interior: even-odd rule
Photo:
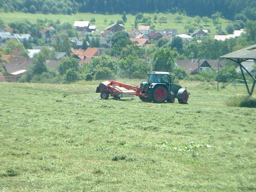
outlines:
[[[251,45],[249,47],[245,47],[245,48],[240,49],[240,50],[235,51],[235,52],[228,53],[226,55],[222,55],[222,56],[220,56],[220,58],[229,59],[231,61],[236,62],[239,65],[242,76],[243,76],[243,79],[244,79],[244,84],[245,84],[247,92],[248,92],[248,95],[252,96],[252,92],[254,90],[255,83],[256,83],[256,75],[255,75],[255,77],[252,76],[252,74],[246,68],[244,68],[244,66],[241,63],[244,62],[244,61],[246,61],[246,62],[255,62],[256,63],[256,44]],[[254,60],[254,61],[247,61],[247,60]],[[249,87],[248,87],[248,84],[246,82],[243,70],[250,77],[252,77],[253,83],[252,83],[251,90],[249,90]]]

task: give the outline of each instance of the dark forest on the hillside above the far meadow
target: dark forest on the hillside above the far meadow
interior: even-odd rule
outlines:
[[[222,16],[247,17],[256,20],[255,0],[0,0],[0,11],[72,14],[76,12],[127,13],[172,12],[188,16],[211,16],[221,12]],[[241,18],[239,19],[241,20]]]

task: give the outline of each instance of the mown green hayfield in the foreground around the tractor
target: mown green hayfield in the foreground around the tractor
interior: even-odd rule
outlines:
[[[181,81],[188,104],[155,104],[100,100],[99,82],[0,83],[0,190],[256,191],[256,110],[226,106],[237,92]]]

